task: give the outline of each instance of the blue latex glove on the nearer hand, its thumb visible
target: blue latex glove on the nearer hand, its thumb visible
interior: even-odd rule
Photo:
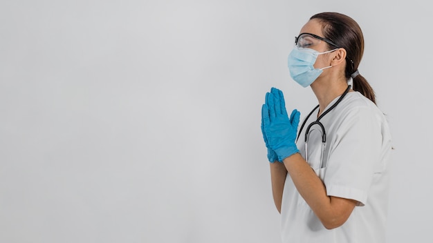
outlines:
[[[299,153],[295,140],[300,112],[295,109],[290,119],[288,118],[281,90],[271,88],[270,93],[266,93],[266,102],[261,108],[261,116],[268,146],[277,153],[279,161]]]

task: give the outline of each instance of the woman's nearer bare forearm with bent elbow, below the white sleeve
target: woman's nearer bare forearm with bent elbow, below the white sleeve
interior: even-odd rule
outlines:
[[[322,180],[299,153],[284,159],[284,166],[291,175],[297,191],[327,229],[333,229],[346,222],[356,205],[355,201],[326,195],[326,187]]]

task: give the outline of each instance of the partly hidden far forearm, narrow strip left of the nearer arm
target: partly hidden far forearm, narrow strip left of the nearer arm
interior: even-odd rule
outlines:
[[[275,206],[281,213],[281,204],[283,198],[284,182],[286,182],[287,170],[284,164],[280,162],[270,164],[270,179],[272,183],[272,194]]]

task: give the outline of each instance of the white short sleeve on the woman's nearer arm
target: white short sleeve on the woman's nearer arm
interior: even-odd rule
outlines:
[[[335,124],[324,176],[326,193],[367,204],[367,195],[379,163],[380,122],[368,106],[352,108]]]

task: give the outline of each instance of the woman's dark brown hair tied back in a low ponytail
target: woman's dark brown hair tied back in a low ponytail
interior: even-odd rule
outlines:
[[[358,23],[351,17],[338,12],[321,12],[310,19],[317,19],[322,23],[323,35],[347,52],[345,76],[347,79],[358,71],[358,66],[364,54],[364,35]],[[333,48],[329,46],[329,48]],[[376,95],[367,79],[362,75],[353,78],[353,90],[360,92],[376,104]]]

